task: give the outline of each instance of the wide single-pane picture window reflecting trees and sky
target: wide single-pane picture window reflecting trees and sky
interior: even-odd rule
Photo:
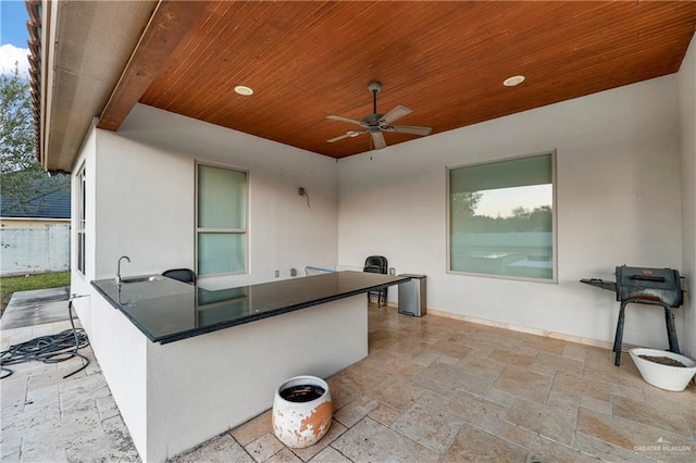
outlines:
[[[448,271],[556,280],[555,153],[448,171]]]

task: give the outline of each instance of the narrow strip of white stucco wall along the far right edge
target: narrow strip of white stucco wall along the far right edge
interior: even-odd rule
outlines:
[[[680,134],[682,145],[683,273],[687,277],[684,305],[683,352],[696,358],[696,36],[679,74]]]

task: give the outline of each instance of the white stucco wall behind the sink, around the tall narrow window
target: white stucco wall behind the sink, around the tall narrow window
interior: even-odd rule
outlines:
[[[249,273],[229,287],[336,266],[336,162],[261,138],[137,105],[117,133],[97,130],[97,278],[195,267],[195,161],[249,172]],[[298,195],[303,187],[310,196]]]

